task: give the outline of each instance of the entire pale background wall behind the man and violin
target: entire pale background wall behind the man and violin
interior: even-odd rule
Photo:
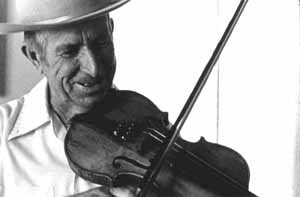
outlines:
[[[174,122],[238,3],[132,0],[113,12],[117,86],[151,98]],[[19,42],[21,35],[10,37],[8,94],[0,102],[40,79]],[[300,196],[293,193],[293,186],[300,188],[294,176],[300,172],[298,90],[298,1],[250,0],[182,135],[193,141],[205,136],[240,152],[258,196]]]

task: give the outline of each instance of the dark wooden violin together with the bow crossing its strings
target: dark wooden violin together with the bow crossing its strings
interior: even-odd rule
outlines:
[[[71,121],[64,144],[71,169],[100,185],[139,188],[139,197],[255,197],[239,153],[203,137],[191,143],[179,136],[246,3],[241,0],[175,124],[147,97],[110,89]]]

